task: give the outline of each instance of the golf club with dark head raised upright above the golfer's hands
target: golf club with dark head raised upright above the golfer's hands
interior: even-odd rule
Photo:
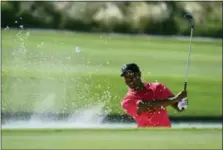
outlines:
[[[187,90],[187,78],[188,78],[188,69],[189,69],[189,62],[190,62],[190,52],[191,52],[191,41],[192,41],[192,36],[193,36],[193,29],[194,29],[194,20],[193,16],[190,14],[184,15],[184,18],[188,20],[191,28],[190,32],[190,45],[188,49],[188,57],[187,57],[187,63],[186,63],[186,71],[185,71],[185,79],[184,79],[184,90]]]

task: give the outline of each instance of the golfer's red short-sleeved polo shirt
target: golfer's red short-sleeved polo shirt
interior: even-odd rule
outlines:
[[[136,113],[137,103],[140,100],[163,100],[174,94],[162,83],[144,83],[146,91],[134,91],[128,89],[128,92],[121,102],[124,111],[133,117],[138,127],[171,127],[168,112],[166,108],[143,112],[139,115]]]

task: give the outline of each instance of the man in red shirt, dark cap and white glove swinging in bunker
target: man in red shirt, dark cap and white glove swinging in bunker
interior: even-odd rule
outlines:
[[[125,64],[121,76],[129,87],[121,106],[138,127],[171,127],[166,107],[172,106],[177,111],[187,107],[187,91],[175,96],[162,83],[143,82],[141,71],[135,63]]]

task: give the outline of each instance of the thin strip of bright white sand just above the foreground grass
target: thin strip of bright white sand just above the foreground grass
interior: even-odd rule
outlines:
[[[2,125],[2,129],[118,129],[118,128],[136,128],[135,123],[83,123],[69,121],[11,121]],[[172,128],[222,128],[221,123],[172,123]]]

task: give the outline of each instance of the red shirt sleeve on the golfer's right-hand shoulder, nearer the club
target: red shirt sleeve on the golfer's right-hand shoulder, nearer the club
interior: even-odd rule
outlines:
[[[173,97],[174,94],[172,93],[172,91],[170,91],[170,89],[165,86],[164,84],[160,83],[158,86],[157,86],[157,89],[156,89],[156,97],[157,99],[167,99],[169,97]]]

